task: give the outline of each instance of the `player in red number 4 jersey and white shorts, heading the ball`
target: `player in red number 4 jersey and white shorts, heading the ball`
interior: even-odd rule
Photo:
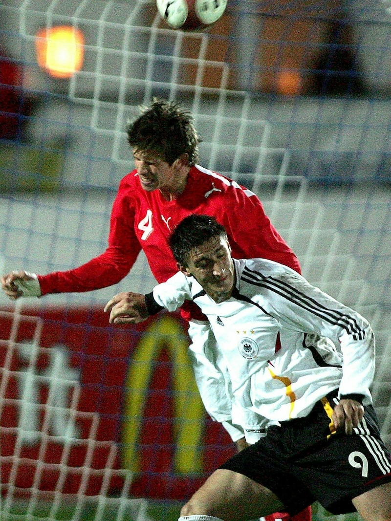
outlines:
[[[108,247],[82,266],[48,275],[11,271],[1,279],[11,299],[49,293],[83,292],[112,286],[122,280],[141,250],[157,282],[177,272],[168,246],[174,227],[189,214],[207,214],[227,229],[236,258],[264,257],[300,271],[296,255],[265,215],[262,203],[250,190],[218,173],[198,166],[199,138],[191,115],[179,105],[155,100],[128,128],[136,169],[125,176],[113,205]],[[213,381],[227,378],[225,368],[216,374],[215,340],[197,306],[181,309],[189,321],[190,356],[204,400]],[[232,425],[230,397],[216,396],[205,403],[207,412],[224,422],[237,446],[243,444],[240,426]],[[310,507],[304,519],[311,518]],[[277,516],[279,517],[279,516]]]

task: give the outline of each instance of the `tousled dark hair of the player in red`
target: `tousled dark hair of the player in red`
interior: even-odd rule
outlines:
[[[190,112],[178,103],[158,98],[142,110],[141,116],[126,128],[131,148],[137,152],[157,154],[169,165],[187,153],[189,165],[195,165],[200,139]]]

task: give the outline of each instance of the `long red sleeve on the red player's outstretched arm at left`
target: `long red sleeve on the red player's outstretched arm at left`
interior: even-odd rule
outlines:
[[[141,246],[133,227],[134,207],[126,192],[123,180],[113,204],[106,251],[78,268],[39,275],[42,295],[106,288],[128,274]]]

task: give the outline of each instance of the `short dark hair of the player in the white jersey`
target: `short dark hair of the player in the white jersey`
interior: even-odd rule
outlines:
[[[187,266],[190,252],[214,237],[227,237],[227,232],[214,217],[192,214],[181,220],[168,241],[174,258]]]

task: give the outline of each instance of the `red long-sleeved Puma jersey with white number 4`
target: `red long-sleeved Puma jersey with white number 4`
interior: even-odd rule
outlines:
[[[178,271],[168,237],[182,219],[194,213],[211,215],[226,228],[233,257],[264,257],[300,272],[296,255],[250,190],[193,166],[185,191],[178,199],[167,201],[160,190],[145,191],[133,170],[119,184],[106,251],[78,268],[39,275],[42,295],[112,286],[128,274],[141,250],[157,282],[165,282]],[[189,313],[182,315],[190,318]],[[201,318],[199,311],[197,318]]]

